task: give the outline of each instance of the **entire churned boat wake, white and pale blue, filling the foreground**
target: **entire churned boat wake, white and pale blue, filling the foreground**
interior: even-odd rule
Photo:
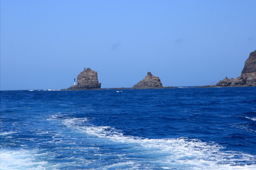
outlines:
[[[256,156],[186,137],[148,139],[56,113],[61,129],[34,149],[1,149],[2,169],[256,169]],[[1,134],[2,135],[2,134]],[[61,163],[60,163],[61,162]]]

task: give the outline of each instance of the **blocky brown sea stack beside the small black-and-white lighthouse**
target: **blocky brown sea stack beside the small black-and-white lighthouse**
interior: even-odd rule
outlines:
[[[67,88],[66,90],[90,90],[90,89],[100,89],[101,83],[98,81],[98,74],[96,71],[90,68],[84,68],[77,76],[77,84]]]

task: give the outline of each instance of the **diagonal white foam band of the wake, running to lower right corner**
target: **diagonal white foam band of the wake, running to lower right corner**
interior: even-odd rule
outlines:
[[[152,164],[163,164],[162,168],[244,169],[245,166],[242,165],[242,161],[246,160],[246,162],[255,163],[256,159],[255,156],[242,152],[224,152],[222,151],[224,147],[216,143],[205,143],[198,139],[185,137],[177,139],[147,139],[126,136],[110,126],[96,127],[90,125],[88,118],[66,119],[63,123],[82,133],[108,139],[114,143],[132,144],[133,147],[130,148],[129,154],[146,156],[145,158],[150,159]],[[134,164],[132,162],[129,163]],[[119,164],[116,164],[108,166],[106,169],[118,168],[119,166]],[[246,168],[255,169],[256,165],[246,166]]]

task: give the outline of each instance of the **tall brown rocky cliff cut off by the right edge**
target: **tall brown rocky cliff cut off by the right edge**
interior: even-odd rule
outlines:
[[[250,53],[245,61],[244,69],[238,78],[227,77],[220,80],[216,86],[256,86],[256,50]]]

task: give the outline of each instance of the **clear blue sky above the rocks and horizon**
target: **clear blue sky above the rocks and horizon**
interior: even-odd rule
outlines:
[[[1,90],[62,89],[90,67],[102,88],[148,71],[163,86],[240,76],[256,0],[1,0]]]

